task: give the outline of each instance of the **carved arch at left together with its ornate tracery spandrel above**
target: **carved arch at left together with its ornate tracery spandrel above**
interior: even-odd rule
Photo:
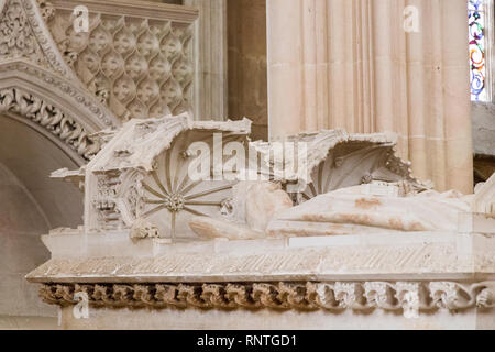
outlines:
[[[35,0],[0,0],[0,112],[34,123],[88,161],[99,151],[90,134],[121,122],[65,63],[45,15]]]

